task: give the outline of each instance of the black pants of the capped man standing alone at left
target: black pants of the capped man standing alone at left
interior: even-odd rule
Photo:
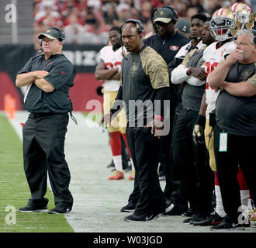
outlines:
[[[26,179],[33,201],[39,203],[47,191],[47,171],[55,205],[71,208],[68,190],[71,174],[64,155],[68,114],[33,116],[23,126],[23,159]]]

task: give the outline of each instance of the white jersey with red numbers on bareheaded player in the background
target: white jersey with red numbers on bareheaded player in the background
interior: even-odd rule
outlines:
[[[123,47],[123,53],[126,53],[125,47]],[[99,57],[104,61],[106,69],[110,70],[118,67],[118,71],[121,71],[123,53],[122,47],[114,51],[112,50],[112,46],[106,46],[99,51]],[[106,80],[104,83],[104,91],[118,91],[119,86],[119,80]]]

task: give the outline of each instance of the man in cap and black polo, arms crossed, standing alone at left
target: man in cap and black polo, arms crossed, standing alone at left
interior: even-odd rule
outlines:
[[[31,198],[20,212],[47,212],[47,171],[55,208],[49,213],[71,211],[70,171],[64,155],[69,112],[69,89],[75,71],[61,53],[64,32],[55,27],[38,36],[43,52],[28,60],[17,73],[16,86],[27,86],[24,105],[29,118],[23,126],[23,160]]]

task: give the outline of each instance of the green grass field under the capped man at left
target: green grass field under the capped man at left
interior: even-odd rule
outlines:
[[[18,212],[30,193],[23,171],[22,142],[5,115],[0,115],[0,140],[0,232],[74,232],[64,215]],[[46,197],[48,209],[54,208],[49,188]]]

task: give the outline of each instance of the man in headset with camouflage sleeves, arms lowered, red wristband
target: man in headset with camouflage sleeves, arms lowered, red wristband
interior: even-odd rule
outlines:
[[[109,124],[120,103],[123,103],[122,107],[126,106],[126,136],[136,171],[133,192],[139,192],[139,198],[134,205],[129,205],[129,212],[134,213],[126,216],[125,220],[149,221],[168,211],[171,205],[164,198],[157,175],[164,100],[168,100],[168,68],[154,49],[144,45],[140,21],[126,20],[120,32],[128,52],[122,62],[121,85],[110,112],[102,117],[99,124]],[[155,100],[158,101],[158,108]],[[148,117],[152,125],[147,125]]]

